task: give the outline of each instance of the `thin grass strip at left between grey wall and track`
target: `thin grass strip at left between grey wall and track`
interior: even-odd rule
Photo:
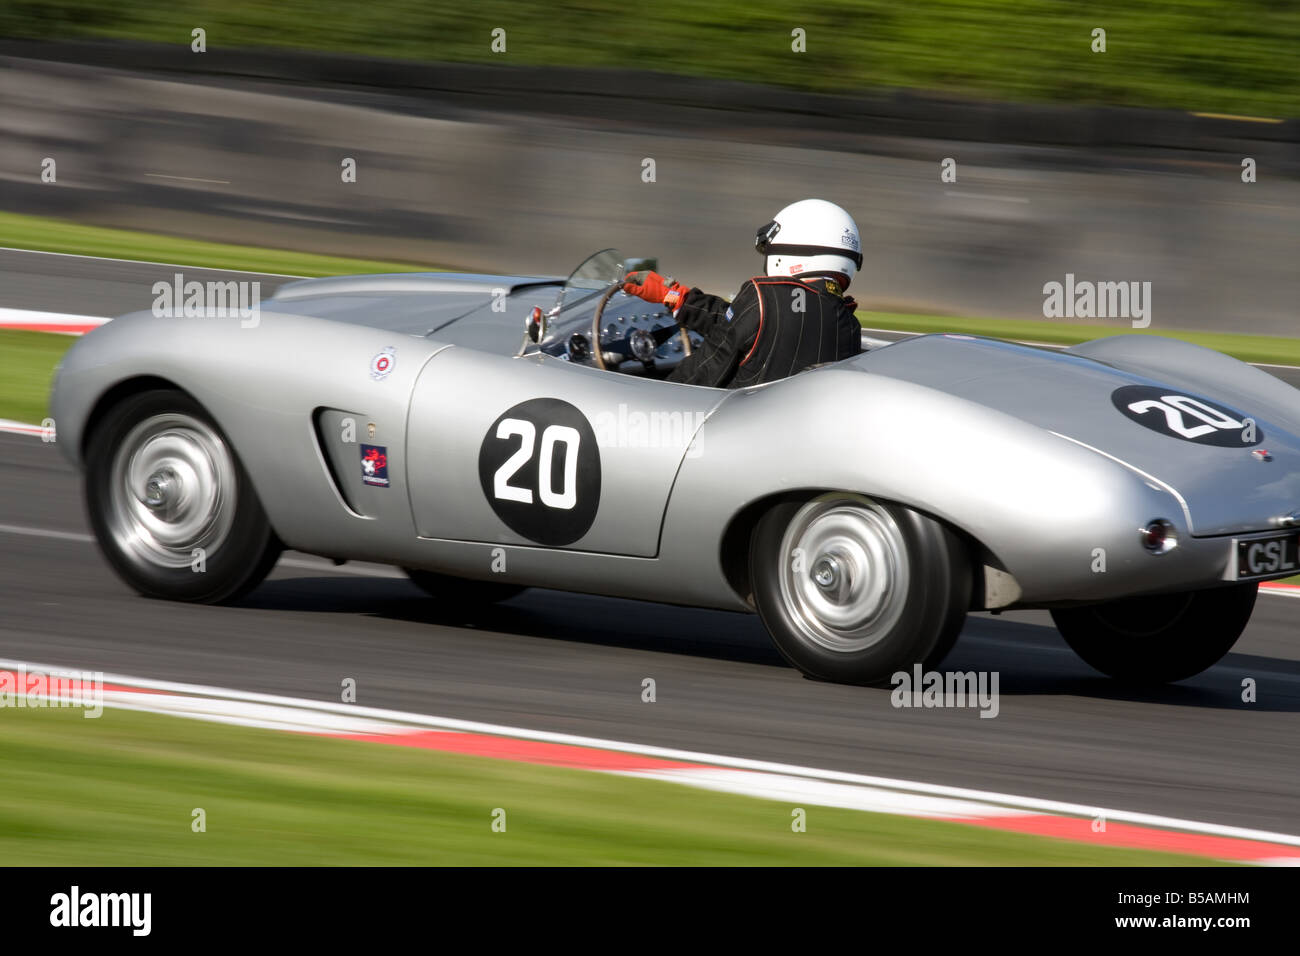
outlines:
[[[269,272],[277,276],[346,276],[359,272],[420,272],[428,265],[322,256],[257,246],[230,246],[130,229],[88,226],[61,219],[0,212],[0,246],[42,252],[176,263],[208,269]]]

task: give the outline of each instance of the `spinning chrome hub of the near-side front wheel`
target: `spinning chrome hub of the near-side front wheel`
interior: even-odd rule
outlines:
[[[124,551],[160,567],[188,567],[230,532],[235,468],[205,421],[173,412],[135,425],[113,458],[108,522]]]

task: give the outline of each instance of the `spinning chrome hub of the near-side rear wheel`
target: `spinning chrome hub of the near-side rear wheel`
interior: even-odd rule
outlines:
[[[781,541],[781,601],[798,630],[829,650],[881,640],[907,598],[907,548],[883,507],[858,496],[805,505]]]

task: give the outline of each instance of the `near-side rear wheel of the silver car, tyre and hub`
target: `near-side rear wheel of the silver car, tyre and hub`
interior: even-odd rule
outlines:
[[[859,542],[876,536],[884,557],[855,550],[854,533]],[[818,553],[796,555],[796,548]],[[915,663],[932,667],[956,643],[971,593],[966,548],[948,527],[848,493],[785,502],[763,515],[750,579],[785,659],[810,678],[844,684],[881,684]],[[861,596],[874,587],[881,597],[864,605]]]

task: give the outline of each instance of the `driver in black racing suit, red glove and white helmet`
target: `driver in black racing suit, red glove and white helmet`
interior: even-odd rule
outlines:
[[[862,268],[858,226],[824,199],[786,206],[758,230],[767,274],[728,303],[655,272],[624,280],[623,291],[663,303],[705,342],[668,376],[688,385],[740,389],[862,351],[857,303],[844,294]]]

